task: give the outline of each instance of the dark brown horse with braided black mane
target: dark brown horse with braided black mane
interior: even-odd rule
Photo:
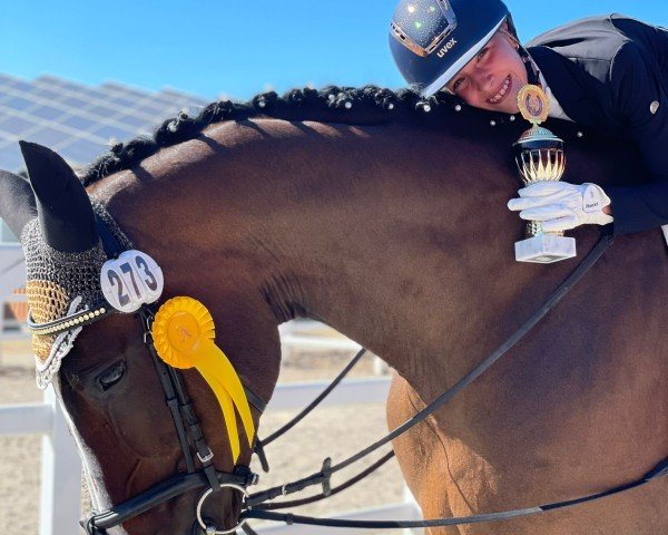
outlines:
[[[394,428],[492,352],[577,265],[514,260],[524,224],[505,204],[519,187],[509,154],[521,123],[409,90],[263,94],[168,119],[81,176],[23,144],[30,181],[0,176],[0,216],[23,240],[37,221],[47,249],[86,254],[99,242],[94,198],[160,265],[163,299],[206,304],[217,343],[265,402],[281,366],[277,327],[299,317],[332,325],[394,369]],[[557,119],[548,126],[566,140],[564,179],[645,179],[628,144]],[[579,257],[598,234],[572,232]],[[617,236],[503,359],[393,441],[424,518],[605,492],[664,459],[667,298],[661,233]],[[39,303],[30,304],[36,315]],[[233,473],[215,396],[196,370],[184,382],[216,469]],[[131,314],[84,327],[53,385],[98,510],[186,470]],[[261,411],[252,411],[257,426]],[[250,456],[242,441],[238,465]],[[667,492],[667,478],[657,478],[564,510],[429,533],[658,535],[668,533]],[[109,533],[199,533],[199,497],[186,492]],[[240,507],[239,493],[224,489],[203,516],[232,528]]]

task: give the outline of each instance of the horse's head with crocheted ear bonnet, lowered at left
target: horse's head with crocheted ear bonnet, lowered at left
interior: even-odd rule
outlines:
[[[96,221],[105,220],[104,208],[62,158],[33,144],[21,149],[30,181],[0,173],[0,216],[26,252],[38,383],[52,381],[69,415],[94,507],[112,507],[89,523],[89,533],[120,523],[109,533],[200,533],[196,509],[212,487],[199,518],[218,529],[234,526],[253,477],[245,468],[249,440],[242,431],[236,464],[219,432],[218,393],[196,388],[206,385],[199,373],[181,378],[146,343],[151,311],[109,314],[100,283],[108,236],[122,249],[127,239],[108,216]]]

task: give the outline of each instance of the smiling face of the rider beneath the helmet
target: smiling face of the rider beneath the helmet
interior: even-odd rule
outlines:
[[[445,87],[477,108],[517,114],[518,91],[525,84],[527,70],[515,41],[498,31]]]

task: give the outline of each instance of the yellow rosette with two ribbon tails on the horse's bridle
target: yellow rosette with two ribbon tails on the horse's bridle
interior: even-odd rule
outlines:
[[[240,447],[235,408],[249,447],[255,437],[255,424],[244,386],[214,341],[216,331],[212,314],[193,298],[174,298],[158,310],[151,333],[156,351],[166,363],[180,369],[197,368],[216,395],[236,463]]]

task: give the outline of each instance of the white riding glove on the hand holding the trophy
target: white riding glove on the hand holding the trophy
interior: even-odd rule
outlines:
[[[612,216],[603,214],[610,197],[596,184],[580,186],[568,182],[538,182],[518,192],[508,207],[520,212],[522,220],[540,221],[543,231],[568,231],[579,225],[607,225]]]

